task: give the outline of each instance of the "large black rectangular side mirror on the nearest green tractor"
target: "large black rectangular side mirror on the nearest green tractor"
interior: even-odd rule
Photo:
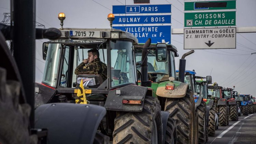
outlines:
[[[156,44],[156,61],[167,60],[167,45],[166,43]]]

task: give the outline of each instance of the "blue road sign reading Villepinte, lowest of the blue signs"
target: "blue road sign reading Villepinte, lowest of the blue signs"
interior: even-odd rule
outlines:
[[[151,38],[151,43],[171,43],[171,26],[113,26],[115,29],[127,31],[138,38],[139,43],[145,43]]]

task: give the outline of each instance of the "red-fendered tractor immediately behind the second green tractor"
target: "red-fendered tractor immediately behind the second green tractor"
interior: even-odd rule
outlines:
[[[217,85],[217,84],[214,84]],[[223,87],[221,86],[208,86],[208,92],[211,93],[211,99],[214,100],[216,106],[216,113],[219,117],[219,126],[229,125],[229,107],[227,99],[223,97]]]

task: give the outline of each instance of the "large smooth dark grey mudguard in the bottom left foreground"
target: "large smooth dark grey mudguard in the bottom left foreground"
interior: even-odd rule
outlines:
[[[106,109],[94,104],[49,103],[35,109],[35,128],[47,128],[49,144],[93,144]]]

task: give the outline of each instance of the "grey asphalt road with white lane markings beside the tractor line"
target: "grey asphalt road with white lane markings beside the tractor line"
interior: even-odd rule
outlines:
[[[219,126],[206,144],[256,144],[256,113],[229,121],[228,126]]]

